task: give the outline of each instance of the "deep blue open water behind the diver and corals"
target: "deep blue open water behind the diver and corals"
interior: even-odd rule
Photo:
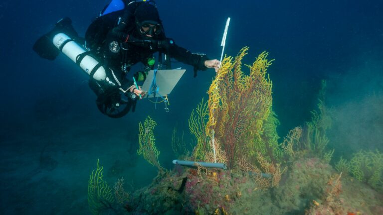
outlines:
[[[89,77],[77,65],[63,54],[48,61],[33,52],[36,39],[65,16],[83,36],[107,3],[0,2],[0,214],[89,213],[87,183],[97,159],[106,180],[123,176],[131,191],[150,184],[156,169],[137,155],[138,124],[147,115],[158,124],[164,167],[173,167],[174,127],[192,138],[188,118],[207,98],[213,69],[193,78],[191,66],[175,63],[187,71],[169,95],[169,112],[139,101],[134,113],[113,119],[99,112]],[[327,80],[335,157],[383,151],[383,1],[157,0],[157,6],[167,36],[192,52],[219,59],[227,17],[226,55],[248,46],[244,63],[252,64],[269,52],[279,136],[311,119]]]

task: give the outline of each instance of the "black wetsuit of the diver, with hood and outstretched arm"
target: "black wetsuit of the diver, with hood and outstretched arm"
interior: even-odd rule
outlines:
[[[100,16],[88,27],[85,34],[86,47],[100,59],[106,69],[107,78],[104,81],[94,79],[89,81],[90,88],[98,97],[97,106],[103,113],[111,104],[119,104],[121,89],[126,91],[125,94],[132,95],[129,88],[134,82],[126,78],[130,67],[141,62],[147,68],[154,69],[154,64],[150,64],[149,60],[156,52],[167,55],[168,60],[174,58],[192,65],[194,77],[196,71],[207,69],[204,65],[208,60],[206,55],[192,53],[166,37],[157,8],[146,3],[148,0],[133,3],[129,3],[132,0],[123,1],[124,10]],[[148,36],[147,32],[142,31],[143,25],[140,26],[145,21],[154,21],[157,25],[153,26],[161,26],[161,30],[154,31],[155,34]],[[130,101],[129,104],[132,104],[134,111],[136,101]],[[123,114],[119,114],[118,117],[120,115]]]

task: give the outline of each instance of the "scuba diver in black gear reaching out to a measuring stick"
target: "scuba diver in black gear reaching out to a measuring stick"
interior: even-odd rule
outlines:
[[[85,48],[85,49],[84,49]],[[40,57],[53,60],[63,52],[90,75],[89,86],[97,95],[98,109],[109,117],[122,117],[136,107],[145,92],[137,85],[155,66],[171,69],[170,58],[192,65],[196,71],[213,68],[220,61],[192,53],[166,37],[153,0],[112,0],[93,21],[85,38],[78,36],[69,18],[59,20],[54,29],[33,45]],[[163,61],[163,58],[165,59]],[[145,69],[127,78],[131,66],[141,62]]]

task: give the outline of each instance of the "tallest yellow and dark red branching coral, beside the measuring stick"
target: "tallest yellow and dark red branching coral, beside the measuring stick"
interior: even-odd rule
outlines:
[[[209,120],[206,134],[222,144],[226,153],[228,167],[232,168],[238,154],[255,155],[254,141],[266,151],[265,142],[261,138],[263,122],[271,114],[272,83],[266,75],[268,61],[267,52],[261,53],[253,65],[248,66],[249,75],[242,70],[242,59],[248,48],[243,48],[234,58],[226,57],[215,80],[208,90]],[[256,140],[257,139],[257,140]],[[268,147],[272,157],[271,146]],[[259,148],[258,148],[259,150]]]

